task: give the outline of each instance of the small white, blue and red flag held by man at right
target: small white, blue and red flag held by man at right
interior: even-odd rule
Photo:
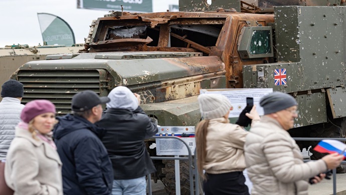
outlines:
[[[346,144],[342,143],[341,141],[334,140],[334,139],[322,139],[319,141],[319,143],[313,148],[315,151],[321,152],[321,153],[339,153],[341,154],[343,151],[343,155],[345,154]]]

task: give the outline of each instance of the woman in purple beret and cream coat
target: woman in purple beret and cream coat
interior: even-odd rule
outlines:
[[[51,138],[56,123],[54,104],[44,99],[30,101],[21,119],[7,153],[7,185],[18,195],[62,195],[62,163]]]

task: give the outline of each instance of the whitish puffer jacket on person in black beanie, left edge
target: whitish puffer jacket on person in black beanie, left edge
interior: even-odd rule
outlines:
[[[0,160],[6,158],[24,107],[25,105],[14,97],[4,97],[0,102]]]

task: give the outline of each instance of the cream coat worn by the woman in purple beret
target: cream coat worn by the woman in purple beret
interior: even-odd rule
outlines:
[[[62,163],[47,142],[17,127],[5,164],[5,180],[15,195],[63,195]]]

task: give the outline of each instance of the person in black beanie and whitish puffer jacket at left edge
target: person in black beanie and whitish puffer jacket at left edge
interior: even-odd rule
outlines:
[[[0,102],[0,160],[6,158],[10,143],[15,138],[15,127],[21,121],[20,115],[24,105],[23,84],[17,80],[8,80],[2,85]]]

